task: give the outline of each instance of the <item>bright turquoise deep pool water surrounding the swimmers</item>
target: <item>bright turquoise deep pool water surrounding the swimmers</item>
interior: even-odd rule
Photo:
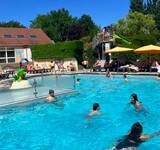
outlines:
[[[64,106],[37,100],[36,103],[0,110],[2,150],[105,150],[127,134],[134,122],[144,133],[160,130],[160,81],[155,77],[78,75],[79,93],[58,97]],[[49,81],[48,81],[49,82]],[[148,113],[128,107],[130,94],[137,93]],[[85,115],[100,103],[101,116],[89,121]],[[160,136],[138,150],[159,150]]]

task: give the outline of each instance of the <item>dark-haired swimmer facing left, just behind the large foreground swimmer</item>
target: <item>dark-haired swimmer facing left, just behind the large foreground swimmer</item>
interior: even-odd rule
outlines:
[[[142,110],[142,104],[141,104],[141,102],[138,101],[137,94],[131,95],[131,103],[130,104],[134,105],[134,107],[136,108],[136,111]]]

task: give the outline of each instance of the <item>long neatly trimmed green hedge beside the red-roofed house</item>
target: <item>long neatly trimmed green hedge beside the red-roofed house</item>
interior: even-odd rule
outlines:
[[[56,44],[31,46],[33,60],[76,58],[82,61],[83,42],[66,41]]]

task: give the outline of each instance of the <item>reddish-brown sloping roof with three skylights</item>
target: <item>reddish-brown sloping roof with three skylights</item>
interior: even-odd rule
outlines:
[[[0,27],[0,47],[50,43],[51,39],[41,29]]]

